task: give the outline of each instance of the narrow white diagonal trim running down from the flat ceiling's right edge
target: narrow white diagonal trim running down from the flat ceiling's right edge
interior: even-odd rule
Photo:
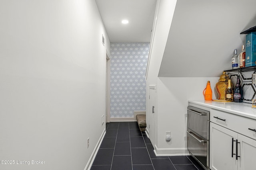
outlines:
[[[157,2],[156,2],[156,11],[155,11],[155,16],[154,16],[154,23],[153,23],[151,39],[150,39],[150,47],[149,47],[149,52],[148,52],[148,63],[147,63],[146,74],[145,74],[146,80],[148,78],[148,68],[149,68],[149,64],[150,64],[152,47],[153,47],[154,37],[155,37],[155,32],[156,32],[156,23],[157,23],[157,18],[158,18],[159,6],[160,6],[160,0],[157,0]]]

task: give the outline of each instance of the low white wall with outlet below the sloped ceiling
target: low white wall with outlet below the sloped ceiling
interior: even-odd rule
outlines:
[[[204,100],[202,94],[210,80],[213,99],[218,97],[215,84],[218,77],[159,77],[158,94],[158,126],[157,126],[157,154],[182,155],[188,153],[186,149],[186,109],[188,100]],[[165,141],[165,131],[171,131],[172,140]]]

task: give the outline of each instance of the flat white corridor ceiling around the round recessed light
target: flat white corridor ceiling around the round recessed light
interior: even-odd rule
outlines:
[[[110,42],[150,42],[156,0],[95,1]]]

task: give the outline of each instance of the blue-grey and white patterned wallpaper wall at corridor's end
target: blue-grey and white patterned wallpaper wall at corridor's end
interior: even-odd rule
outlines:
[[[145,72],[150,43],[111,43],[110,117],[146,110]]]

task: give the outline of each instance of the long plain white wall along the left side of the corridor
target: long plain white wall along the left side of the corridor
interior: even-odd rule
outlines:
[[[0,169],[84,169],[105,128],[110,42],[95,1],[2,0],[0,11],[0,160],[45,161]]]

